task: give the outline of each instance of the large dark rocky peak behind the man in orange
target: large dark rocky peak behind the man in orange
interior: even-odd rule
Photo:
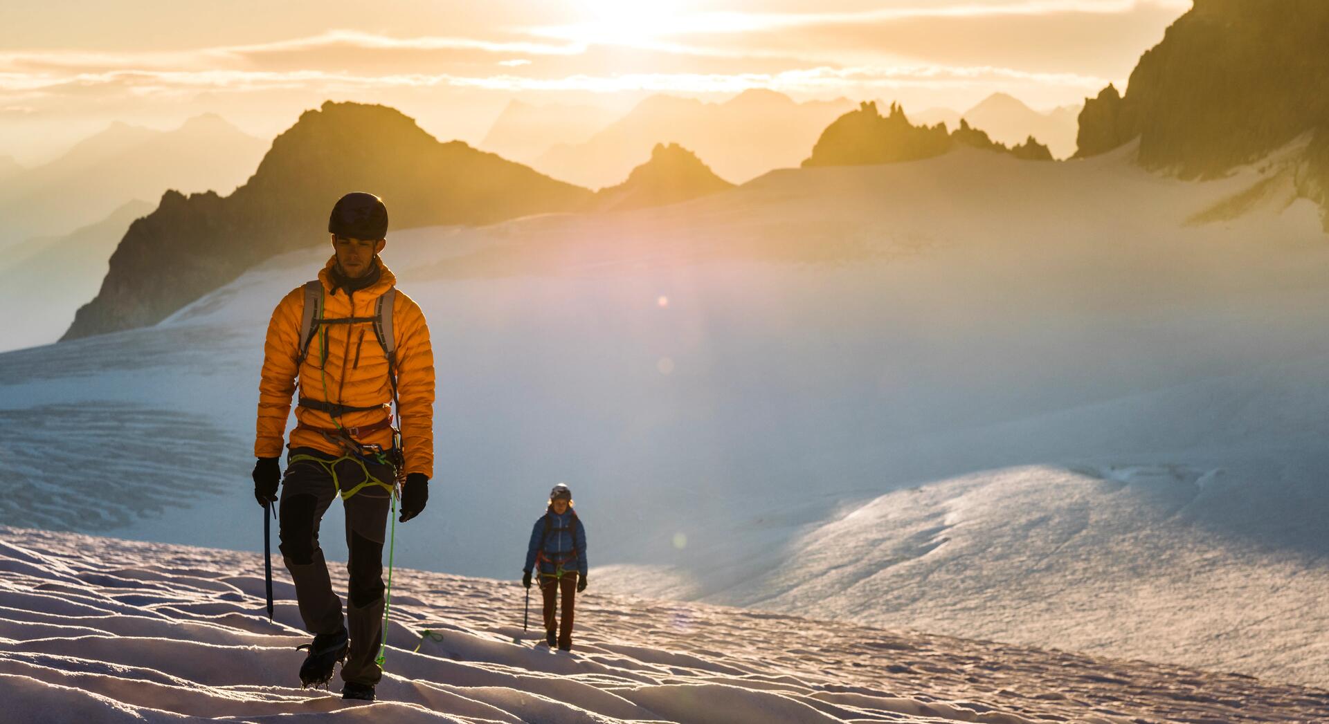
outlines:
[[[231,195],[167,191],[130,226],[62,339],[154,324],[268,256],[319,243],[332,203],[355,190],[381,195],[395,230],[573,210],[591,198],[460,141],[440,143],[391,108],[330,101],[278,136]]]

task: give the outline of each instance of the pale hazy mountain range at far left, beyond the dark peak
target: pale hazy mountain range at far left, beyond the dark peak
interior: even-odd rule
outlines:
[[[206,114],[169,132],[116,122],[49,163],[17,170],[12,162],[0,163],[0,218],[5,219],[0,248],[32,236],[69,234],[132,199],[153,199],[166,189],[234,189],[266,146],[219,116]]]

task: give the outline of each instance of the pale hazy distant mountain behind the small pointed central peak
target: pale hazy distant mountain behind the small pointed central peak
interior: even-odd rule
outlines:
[[[719,104],[651,96],[589,141],[557,145],[532,162],[541,173],[593,189],[621,182],[661,139],[694,150],[715,173],[746,182],[796,166],[817,134],[852,104],[795,102],[783,93],[750,89]]]

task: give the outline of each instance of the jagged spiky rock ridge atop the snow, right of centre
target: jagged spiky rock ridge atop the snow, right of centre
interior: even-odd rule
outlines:
[[[898,104],[890,104],[890,114],[881,116],[874,101],[865,101],[859,110],[845,113],[827,126],[812,147],[812,155],[803,166],[861,166],[872,163],[898,163],[941,155],[957,145],[981,150],[1011,153],[1018,158],[1051,161],[1047,146],[1029,138],[1018,150],[994,142],[986,133],[960,121],[954,133],[945,124],[916,126],[905,117]]]

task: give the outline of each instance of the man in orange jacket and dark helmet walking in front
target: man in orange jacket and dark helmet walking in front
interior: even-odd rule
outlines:
[[[405,522],[424,510],[433,476],[429,328],[379,258],[387,231],[388,210],[373,194],[347,194],[332,207],[332,258],[318,282],[282,299],[268,323],[254,442],[259,505],[275,502],[284,482],[282,559],[304,627],[315,635],[300,683],[326,685],[344,660],[343,697],[371,701],[383,675],[375,659],[383,640],[383,545],[393,485],[401,481],[399,521]],[[298,424],[283,481],[278,461],[296,383]],[[400,433],[392,426],[393,400]],[[350,631],[319,547],[319,522],[339,494],[350,554]]]

